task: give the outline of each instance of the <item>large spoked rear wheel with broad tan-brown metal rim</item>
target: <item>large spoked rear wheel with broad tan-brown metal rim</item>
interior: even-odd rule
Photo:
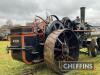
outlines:
[[[77,61],[78,57],[79,44],[72,31],[65,29],[53,31],[46,39],[44,60],[55,72],[63,72],[59,67],[60,61]]]

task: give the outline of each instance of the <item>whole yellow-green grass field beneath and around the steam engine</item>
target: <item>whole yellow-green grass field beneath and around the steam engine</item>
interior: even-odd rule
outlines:
[[[46,64],[39,63],[26,65],[22,62],[15,61],[7,54],[6,47],[9,42],[0,41],[0,75],[57,75],[52,72]],[[95,58],[80,54],[79,61],[94,62],[94,70],[73,70],[64,75],[100,75],[100,55]]]

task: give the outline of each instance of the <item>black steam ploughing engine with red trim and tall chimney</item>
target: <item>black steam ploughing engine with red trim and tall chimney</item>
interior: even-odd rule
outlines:
[[[8,49],[13,59],[26,64],[45,61],[54,71],[61,72],[59,61],[77,61],[82,47],[87,47],[89,54],[95,57],[95,40],[88,41],[94,31],[85,23],[85,7],[81,11],[80,23],[68,17],[59,20],[57,16],[51,15],[48,20],[44,20],[37,16],[42,21],[35,21],[33,26],[12,28],[11,46]]]

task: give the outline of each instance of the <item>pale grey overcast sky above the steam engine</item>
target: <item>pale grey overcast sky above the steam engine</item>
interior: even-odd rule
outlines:
[[[83,6],[87,21],[100,23],[100,0],[0,0],[0,25],[8,19],[24,24],[32,21],[35,15],[45,18],[46,10],[48,14],[74,19]]]

